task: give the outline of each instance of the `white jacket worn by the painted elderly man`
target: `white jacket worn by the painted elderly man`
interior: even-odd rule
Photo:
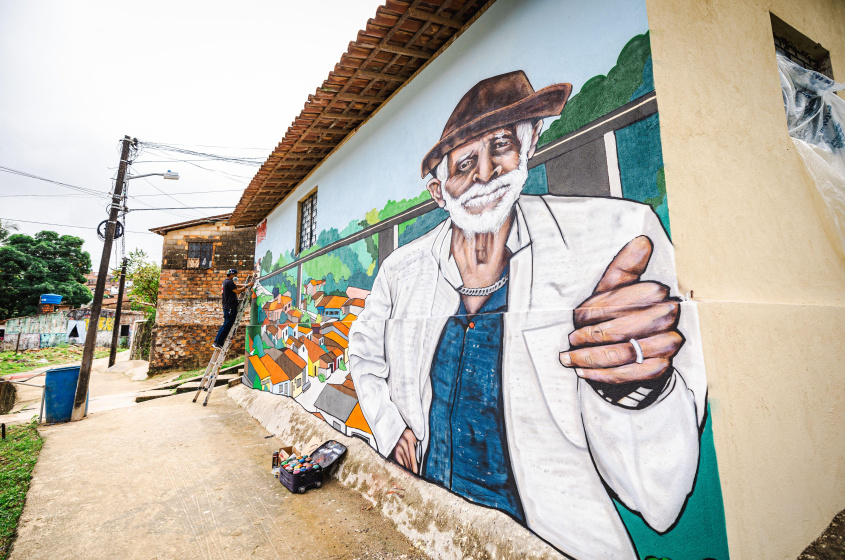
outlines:
[[[513,256],[502,392],[511,466],[528,527],[578,559],[636,558],[602,482],[652,528],[665,531],[692,491],[698,466],[706,381],[694,304],[681,304],[686,342],[668,387],[646,408],[606,402],[558,359],[569,348],[572,310],[639,235],[654,244],[642,279],[661,282],[677,296],[672,245],[649,206],[523,195],[508,239]],[[406,426],[419,440],[418,459],[428,447],[429,372],[462,285],[450,241],[446,220],[394,251],[351,328],[352,378],[385,456]]]

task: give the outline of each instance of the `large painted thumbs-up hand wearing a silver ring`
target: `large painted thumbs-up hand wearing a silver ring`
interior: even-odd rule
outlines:
[[[593,295],[573,313],[571,349],[561,352],[561,364],[578,368],[585,379],[611,384],[653,380],[671,371],[684,343],[677,329],[681,310],[669,288],[640,281],[651,252],[651,240],[640,236],[613,258]],[[631,339],[642,349],[642,363]]]

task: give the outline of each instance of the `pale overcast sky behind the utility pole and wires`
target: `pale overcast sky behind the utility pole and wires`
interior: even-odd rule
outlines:
[[[0,0],[0,166],[106,193],[124,134],[263,161],[380,4]],[[149,228],[227,212],[257,170],[163,156],[194,159],[140,154],[132,173],[180,180],[129,181],[130,208],[226,208],[130,213],[127,253],[156,261],[162,238]],[[0,172],[0,219],[81,237],[95,270],[107,203]]]

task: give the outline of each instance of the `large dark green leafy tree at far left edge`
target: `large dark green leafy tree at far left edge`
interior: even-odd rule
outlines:
[[[82,243],[55,231],[10,235],[0,246],[0,320],[35,314],[41,294],[60,294],[74,307],[90,302],[91,256]]]

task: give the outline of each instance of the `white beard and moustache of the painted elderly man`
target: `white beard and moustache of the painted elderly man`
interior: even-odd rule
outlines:
[[[446,210],[452,218],[452,223],[467,234],[494,233],[508,219],[508,215],[522,192],[522,187],[528,179],[528,158],[520,155],[519,166],[496,177],[489,183],[473,185],[465,193],[453,198],[443,188],[443,201]],[[479,214],[472,214],[467,208],[478,208],[486,206],[491,201],[501,196],[501,190],[507,189],[499,203],[490,210]]]

